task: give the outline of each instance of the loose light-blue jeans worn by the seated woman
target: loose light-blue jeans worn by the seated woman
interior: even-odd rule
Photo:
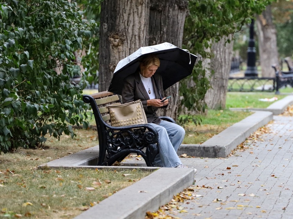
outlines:
[[[184,139],[185,130],[176,123],[165,120],[162,120],[160,125],[148,124],[153,126],[159,134],[159,154],[154,163],[160,167],[176,167],[182,164],[176,152]]]

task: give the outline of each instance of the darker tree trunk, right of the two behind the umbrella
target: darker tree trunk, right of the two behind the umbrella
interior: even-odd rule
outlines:
[[[149,45],[172,43],[181,48],[183,27],[187,14],[187,0],[150,0]],[[176,120],[179,104],[179,83],[165,90],[169,99],[167,110],[160,113]]]

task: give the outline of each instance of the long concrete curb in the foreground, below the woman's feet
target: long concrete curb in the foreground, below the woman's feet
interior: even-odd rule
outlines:
[[[99,204],[81,213],[75,219],[139,219],[147,211],[156,211],[174,195],[192,185],[191,168],[160,168],[132,186],[118,191]],[[140,192],[145,191],[145,192]]]

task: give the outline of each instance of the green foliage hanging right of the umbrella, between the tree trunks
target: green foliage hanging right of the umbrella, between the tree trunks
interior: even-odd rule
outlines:
[[[255,13],[260,14],[271,2],[272,0],[189,0],[190,14],[185,20],[183,47],[198,55],[200,60],[210,58],[212,54],[208,49],[212,42],[240,31],[243,25],[250,23],[250,17]],[[191,80],[190,77],[180,82],[180,95],[184,97],[181,103],[188,109],[197,111],[204,109],[204,95],[210,88],[200,60],[192,75],[195,86],[186,85]]]

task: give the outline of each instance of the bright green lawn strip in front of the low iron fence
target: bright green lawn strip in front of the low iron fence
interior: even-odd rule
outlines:
[[[226,108],[266,108],[273,102],[263,102],[259,99],[277,97],[278,100],[284,98],[284,95],[265,92],[227,92]]]

